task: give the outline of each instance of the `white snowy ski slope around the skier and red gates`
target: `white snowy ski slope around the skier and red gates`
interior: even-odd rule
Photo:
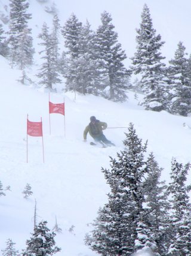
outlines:
[[[33,14],[30,26],[34,46],[38,49],[37,35],[42,23],[46,21],[51,25],[52,15],[47,10],[53,6],[53,1],[29,2]],[[6,15],[6,3],[7,0],[0,0],[0,16]],[[67,18],[64,17],[64,20]],[[38,64],[36,50],[35,65],[28,71],[34,81]],[[2,57],[0,67],[0,181],[4,189],[11,187],[11,191],[4,191],[6,196],[0,198],[0,255],[7,239],[16,243],[19,252],[26,248],[26,240],[33,232],[35,201],[37,221],[47,221],[48,228],[52,230],[57,219],[58,227],[62,230],[55,239],[61,248],[56,255],[97,255],[84,245],[84,237],[91,230],[90,223],[96,218],[98,208],[107,202],[109,186],[101,167],[109,168],[109,156],[115,158],[116,153],[124,149],[122,141],[127,128],[121,127],[128,127],[130,122],[133,122],[143,142],[148,140],[147,153],[153,152],[159,166],[164,168],[162,179],[169,181],[172,157],[183,164],[190,161],[190,118],[167,112],[145,111],[138,106],[142,96],[138,95],[136,100],[133,92],[128,92],[125,103],[113,103],[93,95],[77,94],[75,99],[72,92],[51,93],[53,103],[65,101],[66,136],[64,118],[58,114],[51,115],[50,134],[48,92],[38,88],[36,82],[31,86],[21,85],[17,81],[21,71],[11,69],[8,61]],[[39,122],[42,117],[44,163],[42,138],[29,136],[29,161],[26,162],[27,115],[33,122]],[[87,143],[84,143],[83,131],[93,115],[107,122],[109,128],[104,134],[116,144],[115,147],[91,146],[90,135]],[[27,183],[32,187],[33,194],[26,199],[22,192]]]

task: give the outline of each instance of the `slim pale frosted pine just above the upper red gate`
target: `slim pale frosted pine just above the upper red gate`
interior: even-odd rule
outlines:
[[[49,33],[47,23],[43,24],[39,38],[42,40],[42,43],[39,43],[39,45],[44,47],[39,54],[43,53],[41,59],[44,59],[44,62],[41,64],[40,71],[36,76],[41,79],[39,83],[44,85],[45,88],[54,89],[53,86],[56,85],[56,83],[61,83],[55,52],[57,41],[56,38]]]

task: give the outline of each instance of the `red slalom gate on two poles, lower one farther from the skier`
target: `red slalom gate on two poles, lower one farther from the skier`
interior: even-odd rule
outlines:
[[[33,137],[42,137],[42,155],[44,162],[44,141],[42,133],[42,118],[41,122],[31,122],[27,115],[27,137],[26,137],[26,162],[28,162],[28,135]]]

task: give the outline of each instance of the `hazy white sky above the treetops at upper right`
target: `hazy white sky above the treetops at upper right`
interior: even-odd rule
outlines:
[[[30,0],[31,1],[31,0]],[[131,58],[135,52],[135,28],[139,28],[141,12],[146,3],[150,9],[153,28],[165,41],[162,55],[168,62],[174,58],[179,41],[191,53],[191,0],[49,0],[59,10],[61,25],[74,13],[79,21],[88,20],[95,30],[100,25],[100,14],[106,10],[112,15],[119,43]],[[129,61],[130,62],[130,61]]]

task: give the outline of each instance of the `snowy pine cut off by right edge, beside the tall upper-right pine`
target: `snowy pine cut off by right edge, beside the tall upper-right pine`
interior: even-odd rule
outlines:
[[[191,77],[189,60],[186,58],[186,47],[178,43],[174,59],[169,61],[168,77],[170,78],[170,111],[172,114],[187,116],[191,112]]]

